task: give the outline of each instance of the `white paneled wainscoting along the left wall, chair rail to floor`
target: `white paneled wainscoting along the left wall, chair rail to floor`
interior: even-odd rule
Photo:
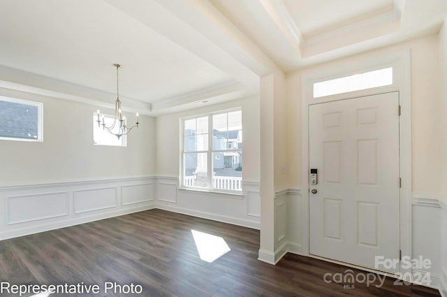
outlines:
[[[0,187],[0,240],[155,207],[153,177]]]

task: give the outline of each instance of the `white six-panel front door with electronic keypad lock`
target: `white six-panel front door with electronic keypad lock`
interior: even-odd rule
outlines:
[[[399,272],[374,265],[400,256],[398,108],[399,92],[309,106],[311,254]]]

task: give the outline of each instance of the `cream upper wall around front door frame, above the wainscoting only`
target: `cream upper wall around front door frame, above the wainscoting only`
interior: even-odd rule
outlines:
[[[355,64],[373,55],[399,50],[411,50],[411,108],[412,108],[412,173],[413,192],[426,196],[439,196],[441,166],[439,163],[439,59],[438,37],[402,43],[366,54],[330,62],[310,69],[327,68],[346,61]],[[308,71],[305,69],[303,71]],[[288,184],[301,184],[301,75],[303,71],[288,74]],[[298,168],[298,169],[297,169]]]

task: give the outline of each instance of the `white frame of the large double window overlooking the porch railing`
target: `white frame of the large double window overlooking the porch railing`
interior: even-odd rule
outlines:
[[[213,192],[213,193],[223,193],[223,194],[235,194],[235,195],[243,195],[243,176],[241,177],[241,189],[240,190],[227,190],[227,189],[216,189],[213,187],[212,184],[212,179],[213,179],[213,154],[214,153],[219,153],[219,152],[240,152],[241,155],[243,156],[243,146],[242,149],[235,149],[235,148],[228,148],[228,143],[227,143],[227,149],[226,150],[214,150],[213,149],[213,120],[212,117],[214,115],[221,115],[221,114],[228,114],[228,113],[233,113],[235,111],[240,111],[241,112],[241,122],[242,122],[242,135],[244,134],[244,120],[242,119],[242,107],[237,107],[237,108],[230,108],[230,109],[226,109],[226,110],[219,110],[219,111],[215,111],[212,113],[202,113],[200,115],[193,115],[193,116],[189,116],[189,117],[182,117],[179,119],[179,129],[180,129],[180,141],[179,141],[179,145],[180,145],[180,164],[179,164],[179,170],[180,170],[180,189],[188,189],[188,190],[194,190],[194,191],[209,191],[209,192]],[[185,151],[184,150],[184,127],[185,127],[185,122],[189,119],[198,119],[200,117],[207,117],[208,118],[208,150],[196,150],[196,151]],[[228,117],[228,115],[227,115]],[[227,122],[227,126],[228,126],[228,122]],[[243,136],[242,136],[243,137]],[[243,139],[243,138],[242,138]],[[187,186],[184,183],[184,166],[185,166],[185,154],[200,154],[200,153],[206,153],[207,154],[207,182],[208,182],[208,187],[192,187],[192,186]],[[243,161],[243,158],[242,158]],[[241,162],[241,166],[242,166],[242,162]],[[242,166],[243,168],[244,166]]]

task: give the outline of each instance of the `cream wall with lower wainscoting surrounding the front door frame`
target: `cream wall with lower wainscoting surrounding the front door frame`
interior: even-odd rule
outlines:
[[[445,35],[445,33],[444,33]],[[446,37],[444,37],[446,38]],[[447,38],[446,38],[447,39]],[[411,137],[412,137],[412,191],[416,196],[413,201],[412,225],[412,249],[413,257],[422,255],[433,261],[432,268],[421,271],[431,273],[435,287],[440,286],[441,265],[440,259],[445,257],[447,250],[441,242],[446,242],[440,234],[443,232],[440,224],[441,208],[437,198],[441,195],[441,183],[447,184],[443,176],[443,167],[447,167],[446,161],[441,162],[444,152],[441,152],[442,133],[441,118],[444,113],[441,109],[441,82],[446,85],[446,78],[439,77],[439,52],[443,52],[446,59],[446,48],[439,49],[438,36],[429,36],[415,41],[409,41],[399,45],[393,45],[380,50],[374,50],[354,57],[346,57],[337,61],[332,61],[312,68],[303,69],[294,73],[289,73],[286,77],[286,117],[287,117],[287,141],[288,141],[288,188],[299,189],[301,186],[301,80],[302,73],[307,71],[323,71],[331,66],[340,63],[356,64],[365,61],[370,57],[386,55],[391,52],[402,50],[411,51]],[[445,75],[445,73],[444,73]],[[446,91],[443,91],[445,94]],[[446,113],[447,114],[447,113]],[[444,124],[445,126],[445,124]],[[444,135],[445,136],[445,135]],[[445,150],[444,150],[445,151]],[[444,180],[443,180],[444,178]],[[290,191],[290,190],[289,190]],[[275,226],[278,234],[286,233],[286,238],[277,237],[275,242],[276,252],[281,256],[284,251],[302,253],[303,233],[303,212],[301,208],[300,194],[291,194],[286,191],[277,194],[275,207],[283,205],[283,201],[288,208],[286,212],[286,230],[279,222]],[[427,202],[428,201],[428,202]],[[277,210],[279,211],[279,210]],[[275,224],[277,221],[275,220]],[[284,219],[283,219],[284,220]],[[445,230],[445,229],[444,229]],[[444,236],[444,234],[443,234]],[[445,237],[445,236],[444,236]],[[443,241],[444,240],[444,241]],[[444,247],[444,249],[442,249]],[[441,254],[443,254],[441,256]],[[445,264],[442,264],[445,265]],[[446,270],[447,271],[447,270]]]

